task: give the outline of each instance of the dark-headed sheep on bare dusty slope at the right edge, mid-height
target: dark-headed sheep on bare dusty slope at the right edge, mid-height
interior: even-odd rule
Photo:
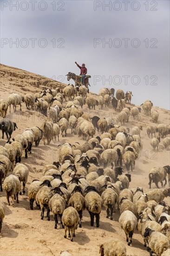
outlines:
[[[150,185],[150,189],[151,189],[151,182],[154,182],[158,187],[158,182],[161,182],[161,185],[163,187],[163,181],[165,181],[164,183],[164,187],[166,186],[167,180],[166,180],[166,175],[170,174],[170,166],[168,166],[166,168],[166,166],[164,167],[154,167],[150,170],[149,173],[149,184]]]

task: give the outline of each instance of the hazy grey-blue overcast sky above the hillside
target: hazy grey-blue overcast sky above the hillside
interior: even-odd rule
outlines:
[[[0,62],[64,83],[85,63],[92,92],[169,109],[170,1],[103,2],[0,0]]]

